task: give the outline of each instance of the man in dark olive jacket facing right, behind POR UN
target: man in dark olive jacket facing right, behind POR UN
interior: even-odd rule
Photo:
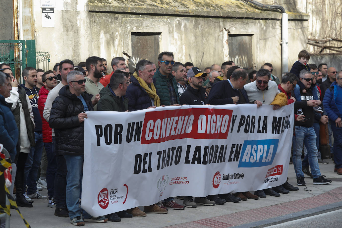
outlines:
[[[114,73],[109,84],[100,91],[97,111],[128,111],[126,94],[129,81],[123,73]]]

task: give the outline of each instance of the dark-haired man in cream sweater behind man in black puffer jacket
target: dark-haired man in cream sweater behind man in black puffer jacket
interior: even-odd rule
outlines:
[[[63,88],[63,86],[67,85],[67,75],[70,71],[73,71],[74,63],[70,59],[64,59],[59,64],[59,72],[61,76],[61,83],[57,84],[55,88],[50,90],[48,93],[48,97],[45,101],[45,107],[43,110],[43,118],[49,122],[50,112],[53,101],[58,96],[59,91]],[[55,133],[54,129],[52,128],[52,144],[54,146],[55,143]],[[56,185],[55,185],[55,201],[56,201],[56,209],[55,215],[59,217],[68,217],[68,210],[66,206],[66,175],[67,175],[67,167],[65,163],[64,156],[56,156],[56,163],[57,163],[57,171],[56,171]]]

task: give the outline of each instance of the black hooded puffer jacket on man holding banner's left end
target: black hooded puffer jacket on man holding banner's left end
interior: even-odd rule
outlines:
[[[92,94],[81,94],[87,103],[88,109],[93,111]],[[59,96],[52,103],[49,124],[55,129],[55,153],[59,155],[84,154],[84,122],[79,122],[78,114],[83,112],[82,101],[69,91],[65,85],[59,91]]]

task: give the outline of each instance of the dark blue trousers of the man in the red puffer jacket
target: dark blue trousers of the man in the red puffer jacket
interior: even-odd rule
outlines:
[[[49,200],[55,196],[55,176],[57,171],[55,144],[44,143],[48,166],[46,169],[46,183],[48,188]]]

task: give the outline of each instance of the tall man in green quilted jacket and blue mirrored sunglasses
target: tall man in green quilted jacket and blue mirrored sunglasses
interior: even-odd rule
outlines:
[[[161,105],[170,106],[179,104],[177,82],[171,73],[174,63],[172,52],[162,52],[158,55],[159,68],[153,77],[156,78],[154,85],[158,90]]]

